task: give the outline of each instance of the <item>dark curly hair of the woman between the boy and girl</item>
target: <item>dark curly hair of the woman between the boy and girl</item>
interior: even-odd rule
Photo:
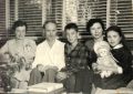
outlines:
[[[102,19],[90,19],[89,22],[86,22],[86,31],[90,32],[91,27],[94,23],[100,23],[102,25],[102,29],[104,30],[104,23]]]

